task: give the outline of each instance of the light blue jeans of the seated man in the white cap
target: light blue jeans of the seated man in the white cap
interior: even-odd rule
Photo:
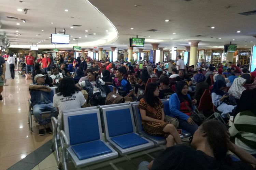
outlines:
[[[52,113],[45,119],[42,119],[43,111],[51,111]],[[51,117],[58,116],[58,110],[53,106],[53,103],[40,103],[33,106],[33,114],[40,125],[51,123]]]

